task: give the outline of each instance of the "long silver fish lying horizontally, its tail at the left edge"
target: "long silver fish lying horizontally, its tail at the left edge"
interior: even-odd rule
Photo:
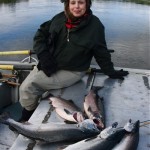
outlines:
[[[86,119],[78,124],[65,123],[46,123],[31,124],[20,123],[10,118],[6,113],[0,115],[0,123],[10,126],[18,134],[32,140],[39,140],[46,143],[63,142],[63,141],[79,141],[87,137],[92,137],[100,133],[95,123]]]

